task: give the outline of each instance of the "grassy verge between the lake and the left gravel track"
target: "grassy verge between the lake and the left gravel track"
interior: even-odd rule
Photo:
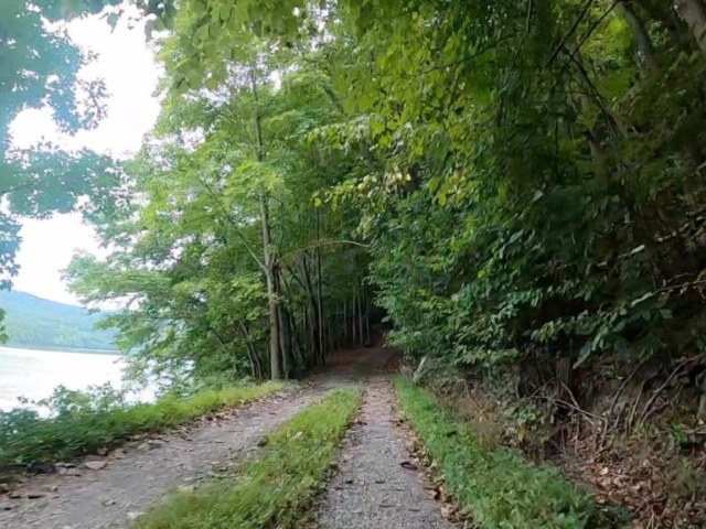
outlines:
[[[151,404],[54,419],[38,419],[22,411],[4,413],[0,417],[0,474],[96,454],[125,442],[130,435],[179,427],[223,408],[258,400],[282,388],[282,384],[275,382],[231,387],[202,391],[186,399],[168,397]]]

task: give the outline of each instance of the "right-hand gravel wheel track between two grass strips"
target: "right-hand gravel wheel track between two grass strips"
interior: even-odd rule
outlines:
[[[421,475],[404,468],[405,434],[396,425],[387,377],[365,384],[359,423],[351,430],[319,510],[323,529],[450,529],[439,505],[424,492]]]

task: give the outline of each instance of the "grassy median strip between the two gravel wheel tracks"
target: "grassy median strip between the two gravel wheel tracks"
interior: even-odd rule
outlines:
[[[213,482],[195,493],[174,493],[141,517],[139,529],[287,528],[318,494],[360,404],[341,389],[268,435],[261,456],[237,479]]]

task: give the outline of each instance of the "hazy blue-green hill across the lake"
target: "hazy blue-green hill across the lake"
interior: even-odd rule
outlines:
[[[25,292],[0,291],[3,325],[9,347],[36,349],[115,350],[115,334],[98,331],[100,314],[86,309],[43,300]]]

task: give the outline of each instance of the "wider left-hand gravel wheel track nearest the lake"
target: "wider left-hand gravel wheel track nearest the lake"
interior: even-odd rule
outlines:
[[[317,385],[303,393],[270,397],[220,420],[204,420],[190,430],[128,444],[118,451],[121,458],[116,458],[115,452],[93,458],[107,463],[104,468],[77,464],[68,469],[68,474],[79,476],[34,476],[18,490],[23,498],[0,497],[0,528],[126,527],[171,489],[194,487],[200,479],[227,469],[232,460],[257,450],[269,430],[327,390]],[[90,466],[99,467],[101,463]],[[40,497],[29,499],[28,494]]]

